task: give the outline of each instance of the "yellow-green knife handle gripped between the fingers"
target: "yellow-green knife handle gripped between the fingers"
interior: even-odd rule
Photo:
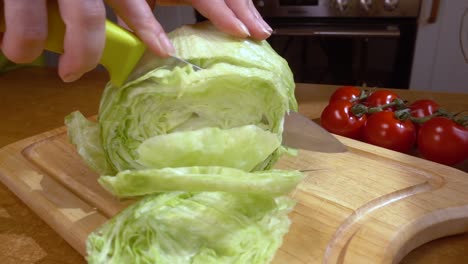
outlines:
[[[65,24],[55,1],[48,1],[48,33],[45,49],[63,53]],[[3,5],[0,5],[0,32],[5,31]],[[106,20],[106,44],[100,63],[107,69],[111,82],[121,86],[143,55],[146,46],[133,33]]]

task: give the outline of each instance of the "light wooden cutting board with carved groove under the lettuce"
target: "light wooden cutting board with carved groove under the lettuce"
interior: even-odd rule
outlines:
[[[468,231],[468,174],[338,137],[349,151],[300,151],[278,168],[311,170],[274,263],[398,263],[415,247]],[[0,149],[0,180],[82,255],[122,203],[97,183],[58,128]]]

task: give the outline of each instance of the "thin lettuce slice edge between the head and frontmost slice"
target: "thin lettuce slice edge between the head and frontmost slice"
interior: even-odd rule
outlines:
[[[226,167],[186,167],[122,171],[102,176],[99,183],[117,197],[158,192],[189,191],[286,195],[302,179],[298,171],[245,172]]]

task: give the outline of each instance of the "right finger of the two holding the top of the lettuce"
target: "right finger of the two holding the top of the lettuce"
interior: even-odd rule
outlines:
[[[263,20],[251,0],[226,0],[226,4],[242,23],[249,29],[254,39],[263,40],[271,35],[273,30]]]

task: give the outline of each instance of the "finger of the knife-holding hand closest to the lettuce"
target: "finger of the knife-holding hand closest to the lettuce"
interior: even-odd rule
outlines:
[[[174,46],[146,0],[108,0],[107,3],[152,52],[163,57],[175,53]]]

